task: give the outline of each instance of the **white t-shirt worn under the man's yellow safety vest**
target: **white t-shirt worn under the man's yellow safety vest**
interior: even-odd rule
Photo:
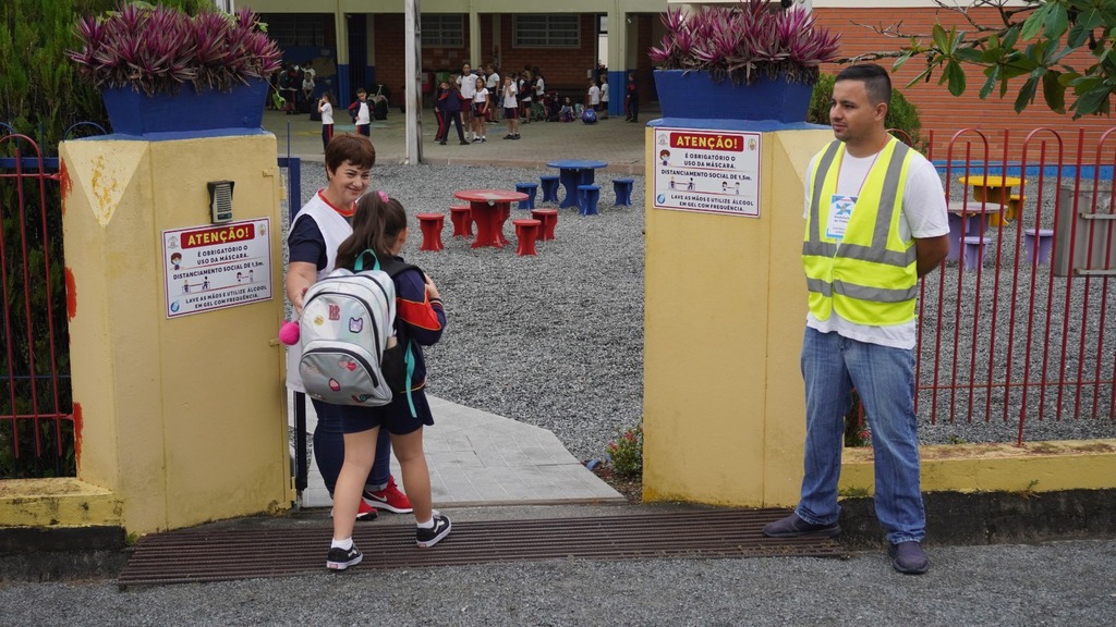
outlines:
[[[854,157],[845,153],[840,162],[840,174],[837,177],[837,193],[855,196],[860,193],[868,172],[876,162],[876,155]],[[812,173],[817,167],[817,156],[810,161]],[[884,165],[884,164],[881,164]],[[810,177],[806,177],[806,211],[804,218],[810,218]],[[826,202],[822,200],[822,202]],[[945,209],[945,191],[942,179],[934,164],[922,154],[914,152],[907,168],[906,187],[903,190],[903,205],[899,214],[899,238],[937,238],[950,232],[949,214]],[[855,209],[854,209],[855,211]],[[824,226],[822,226],[824,228]],[[840,244],[838,244],[840,245]],[[814,314],[806,315],[806,326],[824,334],[837,331],[843,337],[857,341],[878,344],[892,348],[912,349],[917,339],[917,320],[902,325],[875,327],[857,325],[841,318],[836,311],[828,320],[818,320]]]

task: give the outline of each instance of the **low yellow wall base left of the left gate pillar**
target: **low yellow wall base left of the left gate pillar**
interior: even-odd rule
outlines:
[[[0,481],[0,527],[123,524],[110,491],[73,478]]]

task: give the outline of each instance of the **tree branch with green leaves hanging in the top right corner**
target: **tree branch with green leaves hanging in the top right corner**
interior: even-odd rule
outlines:
[[[964,68],[982,68],[985,80],[980,87],[981,99],[999,88],[999,97],[1008,94],[1012,79],[1024,78],[1016,96],[1014,109],[1022,112],[1035,104],[1041,87],[1046,105],[1066,113],[1066,93],[1074,102],[1068,107],[1077,119],[1087,115],[1108,115],[1113,91],[1116,90],[1116,0],[973,0],[961,6],[934,0],[949,11],[964,17],[968,26],[945,27],[941,20],[927,35],[911,35],[902,22],[887,28],[868,27],[886,37],[907,39],[910,44],[895,51],[873,52],[841,61],[866,61],[894,58],[893,70],[921,57],[925,67],[907,87],[930,81],[939,75],[939,85],[960,96],[968,89]],[[981,23],[971,9],[995,9],[995,23]],[[863,25],[862,25],[863,26]],[[1075,52],[1088,52],[1089,60]],[[1075,67],[1074,64],[1078,64]],[[1091,64],[1088,67],[1080,65]]]

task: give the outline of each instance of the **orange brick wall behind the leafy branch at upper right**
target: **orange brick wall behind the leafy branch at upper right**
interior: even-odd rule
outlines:
[[[888,26],[899,19],[903,20],[904,32],[926,35],[924,40],[929,40],[929,33],[935,20],[940,20],[943,26],[956,25],[959,28],[968,26],[963,22],[963,17],[955,12],[939,8],[926,9],[904,9],[901,16],[896,16],[894,9],[815,9],[815,15],[819,25],[826,26],[841,33],[843,57],[854,57],[870,51],[894,50],[898,48],[899,41],[857,25]],[[970,9],[969,16],[978,23],[997,23],[998,13],[991,9]],[[857,23],[853,23],[853,22]],[[970,26],[968,30],[972,31]],[[1091,62],[1091,56],[1087,52],[1077,52],[1069,57],[1068,62],[1075,67],[1084,68]],[[884,67],[891,67],[891,59],[879,61]],[[843,66],[829,64],[822,67],[822,71],[836,74]],[[1013,109],[1016,95],[1022,87],[1023,79],[1018,78],[1009,84],[1008,94],[1003,99],[998,97],[999,89],[985,100],[978,97],[981,86],[984,84],[984,75],[979,68],[968,68],[965,73],[968,88],[959,97],[954,97],[946,89],[945,85],[939,85],[939,74],[935,74],[930,83],[920,83],[912,87],[906,87],[922,69],[924,64],[917,58],[913,58],[903,68],[892,76],[893,86],[902,89],[903,94],[918,107],[923,129],[934,131],[934,158],[945,158],[945,146],[950,137],[962,128],[977,128],[989,133],[989,147],[992,160],[1003,157],[1003,131],[1010,133],[1012,145],[1018,145],[1021,139],[1031,131],[1038,127],[1051,127],[1061,134],[1062,139],[1069,142],[1067,149],[1076,148],[1077,129],[1086,129],[1086,145],[1094,146],[1104,131],[1113,126],[1108,117],[1088,117],[1074,119],[1071,115],[1057,114],[1049,110],[1042,99],[1042,90],[1039,88],[1035,104],[1017,114]],[[1071,97],[1071,95],[1067,95]],[[969,135],[975,137],[975,135]],[[1050,137],[1048,134],[1047,137]],[[963,149],[963,147],[962,147]],[[1032,145],[1028,152],[1028,158],[1037,156],[1037,145]],[[1048,148],[1049,149],[1049,148]],[[1009,158],[1018,158],[1018,154],[1010,154]],[[956,158],[964,158],[958,155]],[[973,160],[983,160],[983,148],[981,154],[974,154]],[[1049,158],[1049,157],[1048,157]]]

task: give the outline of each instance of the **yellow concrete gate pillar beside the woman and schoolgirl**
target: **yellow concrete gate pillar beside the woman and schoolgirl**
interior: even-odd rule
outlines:
[[[145,533],[290,507],[275,136],[60,155],[78,479],[119,503],[104,522]],[[229,224],[211,221],[213,181],[233,182]]]

